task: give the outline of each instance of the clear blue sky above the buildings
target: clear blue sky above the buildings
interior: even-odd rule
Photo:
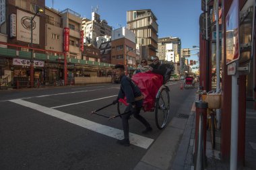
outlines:
[[[199,0],[46,0],[45,4],[60,11],[68,7],[89,19],[92,6],[98,5],[100,18],[106,19],[108,24],[115,28],[126,26],[126,11],[152,9],[158,18],[158,38],[179,37],[182,48],[199,46]],[[189,59],[198,60],[197,56],[191,56]]]

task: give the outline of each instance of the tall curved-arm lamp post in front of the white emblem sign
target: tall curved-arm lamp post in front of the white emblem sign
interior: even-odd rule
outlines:
[[[30,30],[31,30],[31,42],[30,47],[32,48],[33,44],[33,20],[34,17],[38,14],[38,12],[43,12],[42,8],[39,8],[33,17],[30,18]],[[34,60],[33,60],[33,49],[31,49],[31,56],[30,56],[30,87],[34,87]]]

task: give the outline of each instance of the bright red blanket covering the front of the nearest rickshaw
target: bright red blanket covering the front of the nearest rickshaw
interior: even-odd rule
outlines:
[[[148,73],[137,73],[131,78],[132,81],[139,87],[143,94],[143,110],[145,112],[152,110],[156,101],[158,89],[162,86],[162,75]],[[126,99],[120,99],[122,103],[126,103]]]

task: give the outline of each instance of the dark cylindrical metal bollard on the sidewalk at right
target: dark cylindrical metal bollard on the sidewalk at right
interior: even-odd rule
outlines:
[[[208,103],[204,101],[195,102],[195,167],[194,169],[203,169],[206,157],[206,122]]]

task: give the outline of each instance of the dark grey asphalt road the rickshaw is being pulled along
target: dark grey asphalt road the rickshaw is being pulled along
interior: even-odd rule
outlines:
[[[179,81],[168,87],[170,121],[195,91],[181,91]],[[118,91],[113,84],[0,91],[0,169],[133,169],[163,130],[154,112],[141,112],[153,132],[141,134],[143,125],[131,118],[131,146],[116,144],[123,135],[121,119],[90,113]],[[100,113],[117,114],[117,106]]]

